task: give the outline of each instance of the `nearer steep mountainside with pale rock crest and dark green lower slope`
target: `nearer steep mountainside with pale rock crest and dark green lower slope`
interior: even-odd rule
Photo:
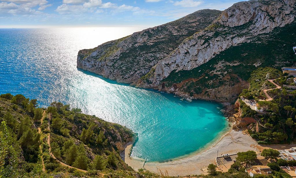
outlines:
[[[287,51],[295,45],[291,40],[294,21],[295,0],[236,3],[184,40],[136,85],[191,98],[234,101],[248,87],[242,79],[255,67],[293,58]]]

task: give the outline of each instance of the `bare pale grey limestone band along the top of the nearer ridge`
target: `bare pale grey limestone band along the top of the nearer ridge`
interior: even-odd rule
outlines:
[[[194,69],[230,47],[252,42],[259,34],[268,34],[276,27],[294,22],[295,4],[295,0],[251,0],[234,4],[205,30],[184,40],[173,53],[158,61],[137,86],[161,89],[162,81],[172,71]]]

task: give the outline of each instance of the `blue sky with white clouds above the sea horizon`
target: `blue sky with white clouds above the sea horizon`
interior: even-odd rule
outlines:
[[[7,0],[0,27],[156,26],[238,0]]]

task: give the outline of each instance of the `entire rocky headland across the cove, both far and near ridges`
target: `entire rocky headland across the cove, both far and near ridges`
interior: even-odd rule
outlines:
[[[257,67],[293,62],[295,3],[251,0],[223,12],[200,10],[80,50],[77,67],[140,88],[233,104]]]

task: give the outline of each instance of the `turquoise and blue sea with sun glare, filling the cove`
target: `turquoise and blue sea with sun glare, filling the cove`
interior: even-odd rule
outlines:
[[[132,88],[76,68],[78,50],[140,28],[0,29],[0,93],[24,94],[46,107],[52,101],[119,123],[138,133],[131,156],[167,161],[217,139],[225,118],[207,101]]]

